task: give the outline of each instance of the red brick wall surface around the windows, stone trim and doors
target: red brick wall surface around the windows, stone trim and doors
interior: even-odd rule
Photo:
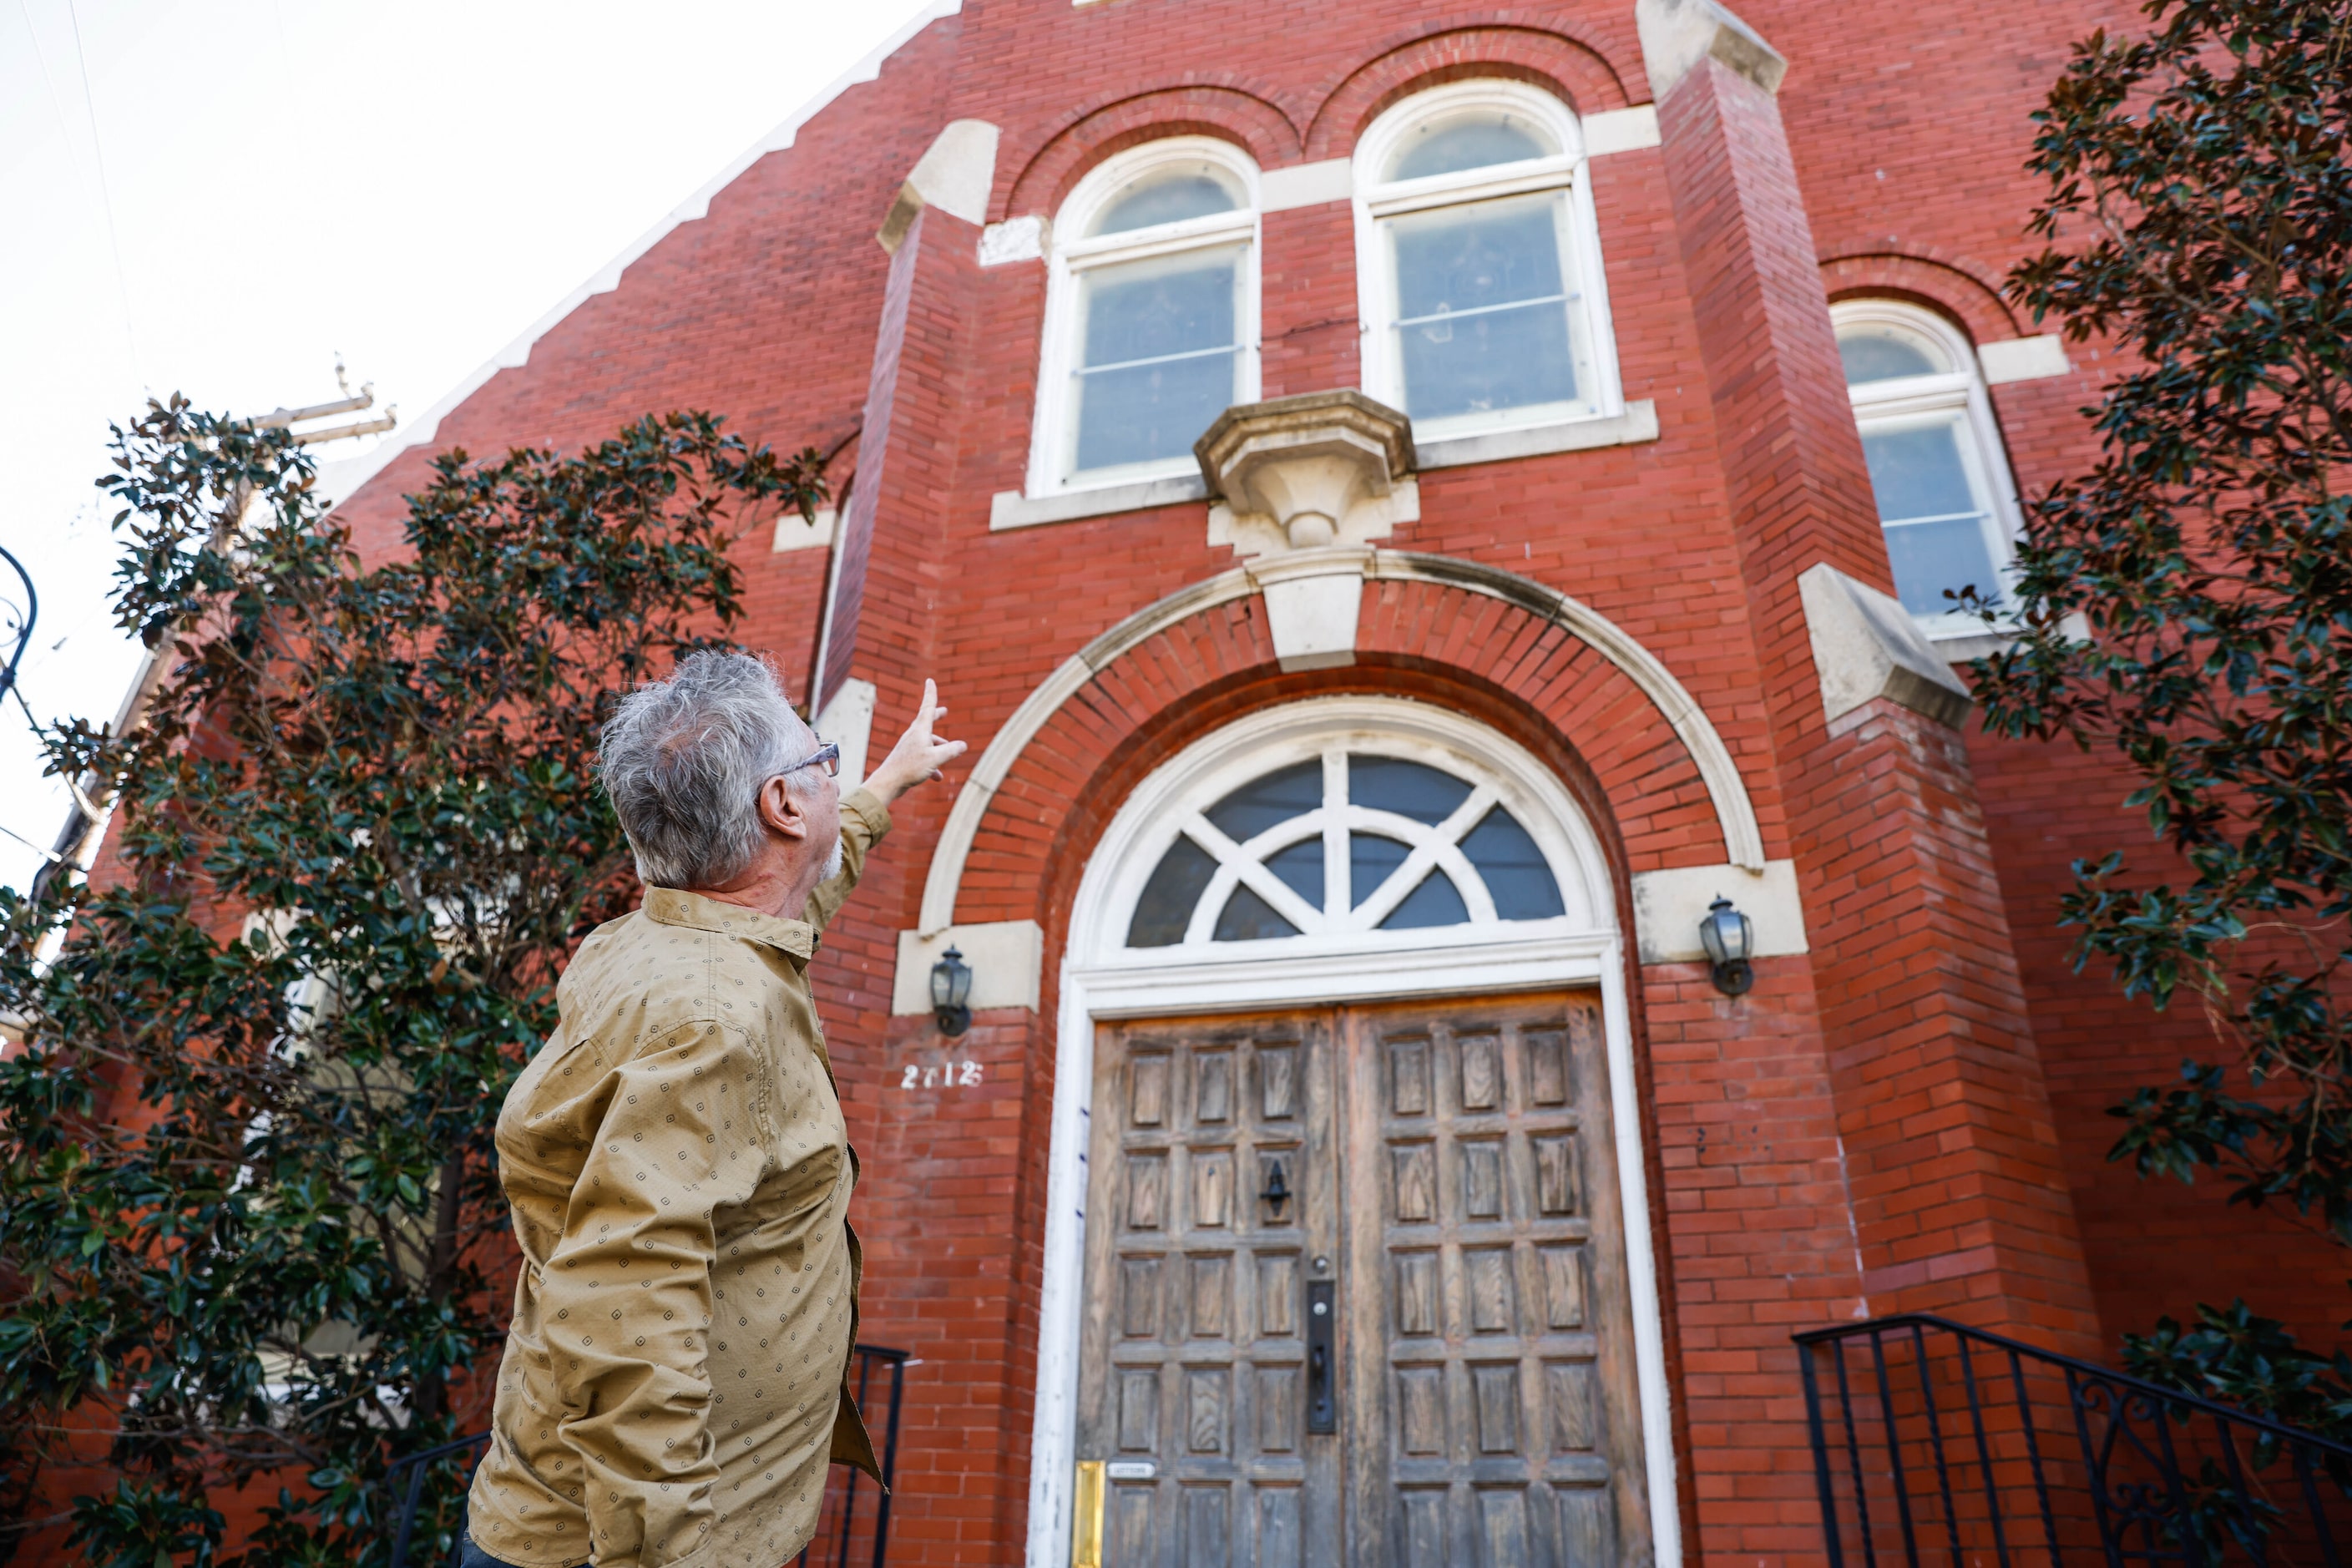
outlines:
[[[2161,1079],[2187,1020],[2150,1025],[2053,931],[2067,856],[2124,844],[2122,785],[2058,750],[1962,745],[1905,710],[1823,719],[1797,571],[1889,576],[1828,329],[1830,294],[1900,294],[1973,336],[2032,331],[1999,301],[2034,181],[2025,115],[2110,0],[1905,7],[1757,0],[1790,61],[1771,99],[1717,66],[1661,103],[1665,146],[1592,162],[1616,353],[1656,442],[1423,475],[1388,548],[1501,567],[1639,639],[1738,762],[1766,853],[1799,867],[1811,952],[1748,997],[1700,966],[1630,976],[1686,1552],[1818,1561],[1795,1403],[1797,1328],[1910,1305],[2096,1347],[2157,1309],[2246,1291],[2310,1328],[2340,1309],[2336,1255],[2211,1194],[2103,1164],[2124,1086]],[[875,748],[924,675],[976,745],[1091,637],[1232,564],[1204,510],[990,534],[1018,489],[1047,306],[1035,261],[978,268],[976,230],[927,212],[873,235],[950,118],[1002,129],[990,216],[1051,216],[1101,158],[1223,136],[1263,167],[1345,158],[1399,94],[1496,73],[1581,110],[1651,99],[1630,0],[1494,7],[1369,0],[969,0],[748,169],[496,374],[435,447],[574,447],[644,411],[706,407],[779,447],[866,421],[844,510],[833,672],[880,689]],[[1263,221],[1265,395],[1357,374],[1345,205]],[[2107,369],[1994,388],[2025,491],[2079,465],[2074,409]],[[390,543],[423,451],[346,512]],[[809,670],[826,552],[743,545],[753,644]],[[1282,675],[1242,599],[1112,661],[1030,743],[974,842],[957,919],[1037,919],[1040,1013],[960,1041],[889,1018],[953,795],[908,797],[828,936],[818,990],[866,1150],[866,1335],[908,1380],[894,1561],[1011,1563],[1025,1530],[1054,990],[1084,856],[1124,792],[1211,726],[1315,691],[1463,708],[1562,771],[1623,875],[1726,858],[1656,708],[1524,609],[1371,583],[1359,663]],[[800,696],[795,691],[795,696]],[[1625,914],[1630,922],[1630,912]],[[971,1060],[981,1084],[920,1088]],[[906,1088],[906,1070],[917,1088]],[[2227,1239],[2227,1244],[2223,1244]],[[2336,1272],[2331,1272],[2336,1269]]]

